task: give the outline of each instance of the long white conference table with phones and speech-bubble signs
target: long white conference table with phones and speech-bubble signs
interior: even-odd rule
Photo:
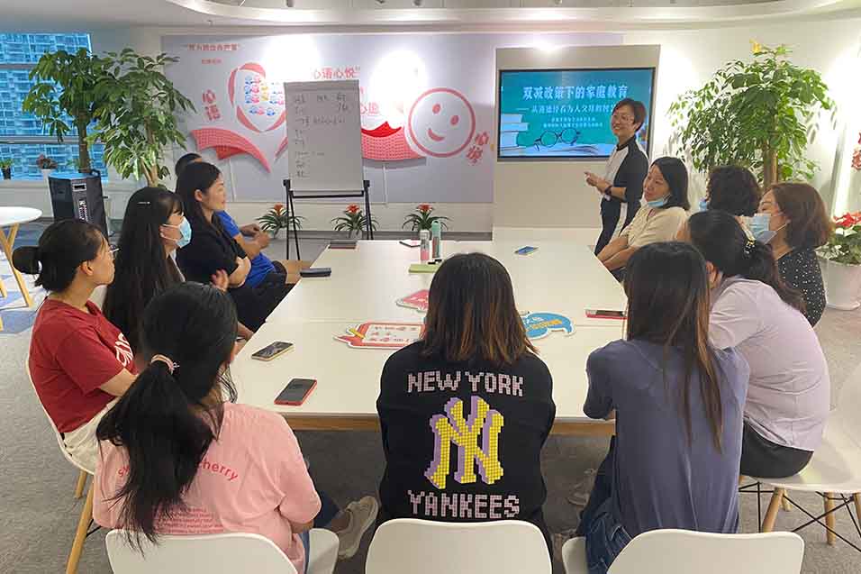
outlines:
[[[587,308],[624,309],[619,283],[584,245],[538,241],[529,256],[515,255],[521,244],[508,241],[444,241],[443,255],[484,252],[500,260],[512,276],[521,313],[561,314],[574,333],[550,332],[533,341],[553,376],[557,406],[553,433],[612,434],[612,422],[583,412],[589,353],[620,339],[623,322],[590,319]],[[396,301],[431,286],[432,274],[411,274],[419,250],[398,241],[359,241],[356,250],[323,251],[314,267],[330,267],[329,278],[304,278],[269,316],[231,365],[239,402],[285,416],[294,430],[379,429],[376,397],[385,360],[395,350],[353,348],[335,339],[362,323],[421,324],[424,315]],[[294,343],[271,361],[251,354],[275,341]],[[303,405],[276,405],[293,378],[313,378],[317,387]]]

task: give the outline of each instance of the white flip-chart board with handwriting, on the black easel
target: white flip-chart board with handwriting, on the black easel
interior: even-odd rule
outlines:
[[[285,82],[290,188],[362,190],[358,80]]]

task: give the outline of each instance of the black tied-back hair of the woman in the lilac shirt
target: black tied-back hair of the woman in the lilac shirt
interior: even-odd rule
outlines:
[[[735,217],[710,209],[691,215],[687,227],[693,247],[725,278],[740,275],[762,281],[804,313],[804,298],[780,278],[771,245],[748,238]]]

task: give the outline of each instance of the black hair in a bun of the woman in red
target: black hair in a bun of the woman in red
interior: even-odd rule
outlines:
[[[68,289],[80,264],[95,260],[106,242],[102,231],[92,223],[64,219],[51,223],[42,232],[38,247],[16,249],[12,264],[22,273],[38,273],[36,286],[58,293]]]

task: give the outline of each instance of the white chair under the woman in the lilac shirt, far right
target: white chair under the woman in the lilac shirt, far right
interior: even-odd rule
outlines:
[[[781,503],[788,500],[793,506],[811,516],[812,522],[821,523],[825,519],[826,537],[829,544],[838,538],[861,551],[856,544],[847,541],[834,531],[835,513],[842,508],[852,513],[852,503],[855,503],[856,528],[857,519],[861,519],[861,367],[847,378],[843,387],[838,408],[831,411],[820,447],[813,452],[810,463],[801,472],[789,478],[756,478],[763,484],[774,487],[771,502],[763,520],[762,531],[774,530],[777,511]],[[792,498],[787,491],[816,492],[822,495],[825,503],[824,515],[817,519],[808,513]],[[808,525],[804,524],[804,526]],[[797,528],[801,530],[804,526]],[[861,529],[858,530],[861,536]]]

